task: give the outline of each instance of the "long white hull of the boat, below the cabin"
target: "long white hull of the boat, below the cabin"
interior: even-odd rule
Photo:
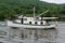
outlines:
[[[22,27],[22,28],[36,28],[36,29],[44,29],[44,28],[55,28],[55,25],[25,25],[25,24],[15,24],[13,22],[8,20],[8,26],[10,27]]]

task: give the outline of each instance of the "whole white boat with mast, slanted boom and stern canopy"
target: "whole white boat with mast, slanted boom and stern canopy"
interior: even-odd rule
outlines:
[[[32,29],[49,29],[56,27],[56,19],[58,17],[41,17],[42,14],[48,13],[46,11],[37,16],[35,16],[35,8],[34,8],[34,16],[17,16],[14,20],[6,20],[8,26],[10,27],[22,27],[22,28],[32,28]],[[50,24],[50,20],[54,20],[53,24]]]

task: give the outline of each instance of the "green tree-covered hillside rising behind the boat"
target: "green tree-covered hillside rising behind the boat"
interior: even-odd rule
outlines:
[[[47,3],[39,0],[0,0],[0,20],[13,15],[32,14],[32,8],[36,8],[36,15],[49,10],[42,16],[58,16],[65,20],[65,4]]]

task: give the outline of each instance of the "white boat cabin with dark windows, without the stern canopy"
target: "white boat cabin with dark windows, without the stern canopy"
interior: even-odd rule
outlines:
[[[47,22],[46,20],[41,20],[41,17],[22,17],[22,18],[18,18],[18,19],[15,19],[15,23],[18,23],[18,24],[29,24],[29,25],[46,25]]]

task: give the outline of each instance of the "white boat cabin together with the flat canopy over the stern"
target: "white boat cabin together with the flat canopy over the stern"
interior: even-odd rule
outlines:
[[[24,25],[49,25],[48,20],[56,19],[57,17],[26,17],[26,16],[18,16],[17,19],[14,20],[16,24],[24,24]]]

